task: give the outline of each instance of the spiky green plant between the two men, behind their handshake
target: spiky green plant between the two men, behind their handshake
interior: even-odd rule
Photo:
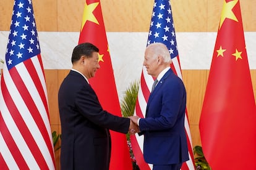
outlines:
[[[124,92],[124,99],[121,101],[122,116],[128,118],[134,115],[135,104],[139,91],[139,81],[131,83],[129,88]],[[134,170],[139,170],[139,166],[136,163],[134,153],[132,152],[132,145],[130,144],[130,134],[126,134],[127,144],[130,150],[130,158],[132,160],[132,167]]]

